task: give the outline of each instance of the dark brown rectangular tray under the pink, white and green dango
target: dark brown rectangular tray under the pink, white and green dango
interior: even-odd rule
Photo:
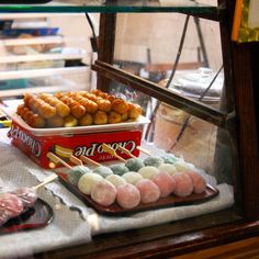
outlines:
[[[160,198],[157,202],[154,203],[140,203],[138,206],[133,209],[122,209],[119,204],[113,203],[110,206],[102,206],[90,198],[90,195],[83,194],[79,191],[78,188],[74,187],[67,181],[67,174],[61,172],[56,172],[59,177],[60,182],[69,190],[71,191],[76,196],[78,196],[82,202],[85,202],[88,206],[91,206],[97,212],[103,215],[108,216],[123,216],[133,214],[136,212],[144,212],[144,211],[150,211],[156,209],[162,209],[162,207],[171,207],[171,206],[180,206],[180,205],[192,205],[192,204],[199,204],[205,201],[209,201],[213,199],[214,196],[217,196],[219,191],[216,188],[213,188],[212,185],[207,184],[206,190],[203,193],[196,194],[193,193],[185,198],[176,196],[173,194]]]

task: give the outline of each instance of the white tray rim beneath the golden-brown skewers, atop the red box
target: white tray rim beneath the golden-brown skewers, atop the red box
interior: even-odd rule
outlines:
[[[123,122],[115,124],[90,125],[90,126],[75,126],[75,127],[50,127],[50,128],[35,128],[27,125],[13,108],[1,108],[7,115],[16,122],[20,126],[30,131],[35,136],[54,136],[54,135],[68,135],[68,134],[82,134],[82,133],[97,133],[97,132],[115,132],[124,130],[139,128],[142,125],[148,124],[150,121],[145,116],[139,116],[134,122]]]

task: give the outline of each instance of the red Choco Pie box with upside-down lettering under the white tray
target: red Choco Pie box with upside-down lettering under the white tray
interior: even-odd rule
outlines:
[[[117,149],[119,146],[138,157],[139,150],[136,147],[140,145],[142,130],[37,136],[13,120],[8,135],[12,145],[21,149],[38,166],[47,169],[50,164],[47,157],[48,151],[54,153],[67,164],[70,164],[70,155],[78,158],[83,155],[98,162],[115,160],[116,158],[102,149],[103,143],[113,147],[124,159],[128,159],[128,155],[121,153]],[[57,167],[60,166],[61,164],[57,165]]]

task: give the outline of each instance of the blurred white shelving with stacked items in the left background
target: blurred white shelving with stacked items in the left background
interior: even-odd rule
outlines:
[[[94,22],[94,18],[91,19]],[[13,21],[14,27],[36,21],[58,27],[60,32],[32,37],[0,36],[0,98],[22,95],[24,91],[54,92],[91,87],[89,65],[93,53],[89,38],[92,32],[85,13],[3,13],[0,21]],[[32,27],[36,27],[35,24]],[[37,50],[37,46],[44,50]]]

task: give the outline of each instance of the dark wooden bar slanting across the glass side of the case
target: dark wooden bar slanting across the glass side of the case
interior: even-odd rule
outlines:
[[[101,74],[102,76],[112,80],[120,81],[126,86],[133,87],[134,89],[140,90],[142,92],[154,97],[162,102],[181,109],[194,116],[205,120],[214,125],[225,127],[226,122],[232,116],[213,109],[203,103],[193,101],[189,98],[184,98],[178,93],[167,90],[166,88],[159,87],[157,83],[143,79],[131,72],[115,68],[112,65],[97,60],[92,65],[92,69]]]

